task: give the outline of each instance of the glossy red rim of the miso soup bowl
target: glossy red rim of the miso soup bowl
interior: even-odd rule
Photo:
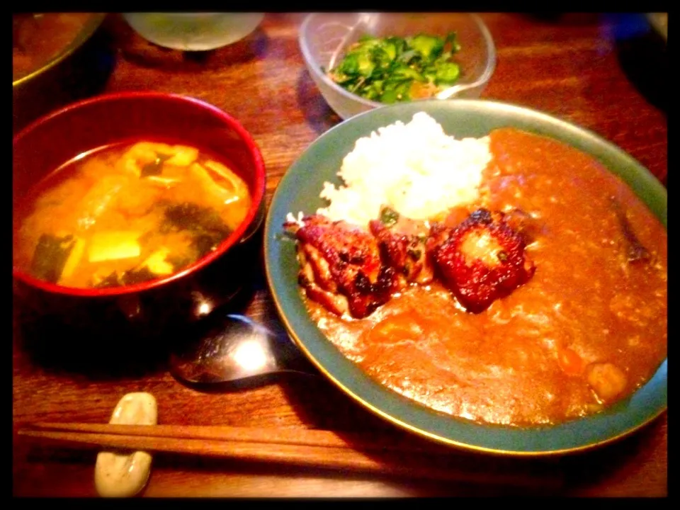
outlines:
[[[79,108],[84,108],[91,106],[96,103],[115,103],[115,101],[129,101],[129,100],[145,100],[145,99],[155,99],[161,101],[169,101],[170,103],[188,103],[193,105],[195,108],[200,108],[210,115],[219,118],[227,125],[229,128],[237,132],[239,137],[244,141],[246,145],[247,152],[253,158],[254,164],[254,186],[251,188],[251,205],[246,213],[246,217],[241,222],[241,224],[234,229],[234,231],[229,234],[229,236],[224,239],[215,251],[211,251],[210,254],[203,256],[198,259],[198,261],[186,266],[181,271],[173,273],[169,276],[162,276],[161,278],[154,278],[153,280],[147,280],[142,283],[135,283],[134,285],[124,285],[120,287],[109,287],[109,288],[77,288],[77,287],[67,287],[65,285],[58,285],[56,283],[50,283],[45,280],[40,280],[40,278],[35,278],[30,276],[26,271],[22,271],[21,268],[17,266],[12,267],[12,275],[14,278],[23,281],[33,288],[39,288],[40,290],[45,290],[52,294],[61,295],[71,295],[71,296],[81,296],[81,297],[110,297],[110,296],[120,296],[120,295],[130,295],[146,290],[152,290],[154,288],[159,288],[167,285],[171,282],[179,280],[184,276],[195,273],[201,268],[208,266],[216,259],[220,258],[226,251],[228,251],[234,244],[239,243],[243,238],[246,231],[251,226],[251,223],[256,220],[256,216],[259,213],[259,209],[264,201],[264,193],[266,187],[266,166],[264,159],[262,157],[259,146],[255,142],[254,138],[244,126],[239,123],[239,121],[232,115],[223,111],[217,106],[212,105],[206,101],[202,101],[198,98],[193,98],[191,96],[184,96],[182,94],[172,94],[166,92],[155,92],[155,91],[123,91],[123,92],[113,92],[108,94],[100,94],[91,98],[86,98],[81,101],[76,101],[70,103],[63,108],[56,111],[43,115],[42,117],[34,120],[32,123],[28,124],[26,128],[23,128],[18,132],[12,140],[12,147],[14,147],[23,137],[30,135],[30,132],[35,130],[35,128],[40,127],[40,125],[49,123],[51,120],[69,113],[70,111],[77,110]]]

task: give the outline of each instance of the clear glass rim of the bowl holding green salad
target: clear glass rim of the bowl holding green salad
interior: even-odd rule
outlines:
[[[363,106],[368,106],[370,108],[380,108],[381,106],[385,106],[386,103],[380,103],[380,101],[371,101],[370,99],[365,99],[361,96],[358,96],[356,94],[352,94],[351,92],[347,91],[343,87],[339,86],[336,84],[335,81],[331,80],[327,74],[319,72],[319,69],[317,68],[317,64],[314,62],[314,59],[312,58],[312,52],[310,50],[310,47],[307,42],[306,38],[306,33],[307,33],[307,26],[312,22],[312,20],[316,17],[319,16],[319,14],[325,14],[325,13],[311,13],[308,14],[305,19],[302,21],[302,24],[300,25],[300,33],[297,35],[297,41],[298,44],[300,45],[300,51],[302,52],[302,57],[305,59],[305,63],[307,64],[307,69],[310,70],[310,72],[313,72],[316,77],[321,79],[324,84],[329,86],[332,90],[336,91],[338,94],[343,96],[344,98],[347,98],[351,101],[356,101],[357,103],[362,104]],[[346,14],[346,13],[344,13]],[[356,13],[358,16],[372,16],[376,13]],[[473,81],[470,84],[465,84],[465,85],[460,85],[460,84],[454,84],[453,86],[448,87],[448,89],[444,89],[443,91],[440,91],[438,93],[438,96],[441,95],[442,98],[450,98],[455,96],[455,94],[458,94],[462,91],[465,91],[467,89],[475,89],[478,86],[482,86],[484,84],[487,84],[489,82],[489,79],[491,79],[492,74],[494,74],[494,70],[496,69],[496,45],[494,43],[494,38],[491,35],[491,32],[489,31],[489,28],[487,27],[486,23],[482,20],[482,18],[477,14],[477,13],[461,13],[461,14],[467,14],[470,16],[472,21],[475,22],[477,25],[477,28],[479,28],[480,33],[482,34],[482,38],[485,40],[486,48],[487,48],[487,65],[484,69],[484,72],[480,75],[479,78],[477,78],[475,81]],[[360,18],[361,19],[361,18]],[[421,98],[421,99],[413,99],[412,101],[409,102],[416,102],[416,101],[428,101],[431,98]]]

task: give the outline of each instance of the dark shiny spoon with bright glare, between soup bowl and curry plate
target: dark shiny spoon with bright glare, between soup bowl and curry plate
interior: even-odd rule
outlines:
[[[288,337],[239,314],[211,314],[193,324],[170,356],[170,372],[193,387],[242,386],[278,373],[316,375]]]

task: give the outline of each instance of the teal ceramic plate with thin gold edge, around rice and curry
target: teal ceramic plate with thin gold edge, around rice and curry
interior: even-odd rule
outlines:
[[[336,125],[316,140],[280,181],[265,226],[268,283],[288,333],[310,361],[347,395],[391,421],[451,446],[506,455],[549,455],[584,450],[621,438],[667,408],[667,361],[635,394],[608,411],[557,426],[517,429],[475,424],[440,414],[370,379],[345,358],[310,319],[297,288],[295,245],[282,237],[288,212],[313,213],[326,205],[319,198],[324,181],[339,184],[336,172],[354,142],[397,120],[409,122],[426,111],[455,137],[481,137],[494,128],[513,126],[562,140],[592,154],[630,184],[667,225],[667,191],[647,169],[593,132],[528,108],[480,100],[419,101],[377,108]]]

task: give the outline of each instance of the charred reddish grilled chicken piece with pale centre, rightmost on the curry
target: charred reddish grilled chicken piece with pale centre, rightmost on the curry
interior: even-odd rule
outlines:
[[[472,313],[531,279],[536,268],[525,246],[526,239],[502,212],[486,209],[472,212],[455,229],[434,226],[428,243],[443,283]]]

